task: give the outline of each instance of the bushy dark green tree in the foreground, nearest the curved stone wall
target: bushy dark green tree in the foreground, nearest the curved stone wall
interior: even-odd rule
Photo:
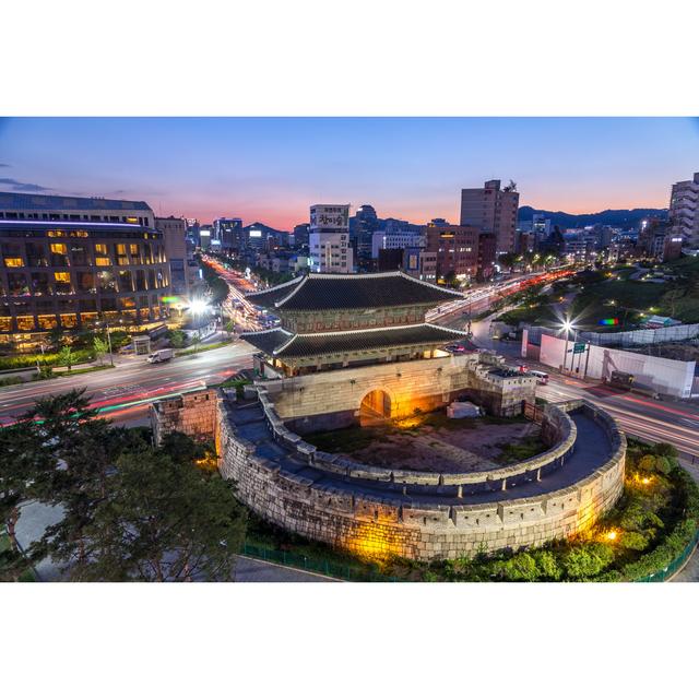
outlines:
[[[80,579],[228,580],[245,530],[245,509],[218,473],[167,448],[128,452],[95,512]]]

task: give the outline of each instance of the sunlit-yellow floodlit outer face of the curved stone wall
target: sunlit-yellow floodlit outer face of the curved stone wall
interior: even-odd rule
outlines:
[[[268,400],[269,399],[263,399]],[[582,410],[609,436],[612,457],[574,486],[542,496],[481,505],[411,505],[315,485],[256,455],[229,418],[235,405],[218,403],[220,470],[236,482],[238,495],[260,517],[289,532],[359,555],[398,555],[418,560],[455,558],[477,550],[540,546],[592,525],[621,495],[626,439],[615,422],[592,404]],[[311,460],[313,451],[284,427],[277,437]]]

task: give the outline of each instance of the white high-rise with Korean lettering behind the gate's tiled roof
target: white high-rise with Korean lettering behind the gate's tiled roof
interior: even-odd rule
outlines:
[[[308,236],[311,272],[351,274],[350,204],[313,204]]]

